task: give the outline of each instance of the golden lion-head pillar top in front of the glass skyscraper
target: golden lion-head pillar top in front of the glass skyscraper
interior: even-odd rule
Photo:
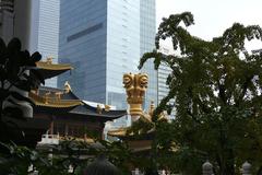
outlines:
[[[147,89],[148,77],[144,73],[123,74],[123,88],[127,92],[127,101],[130,105],[130,115],[138,117],[143,114],[142,104]]]

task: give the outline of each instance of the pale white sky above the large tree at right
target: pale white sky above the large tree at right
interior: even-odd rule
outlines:
[[[162,18],[190,11],[194,15],[191,34],[204,39],[221,36],[235,22],[262,27],[262,0],[156,0],[156,25]],[[261,42],[251,44],[262,48]]]

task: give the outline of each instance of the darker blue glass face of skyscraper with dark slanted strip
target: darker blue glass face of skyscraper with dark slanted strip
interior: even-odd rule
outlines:
[[[59,62],[72,72],[58,78],[69,81],[80,98],[106,103],[107,0],[61,0]]]

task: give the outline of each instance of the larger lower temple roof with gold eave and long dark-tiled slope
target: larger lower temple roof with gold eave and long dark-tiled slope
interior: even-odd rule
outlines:
[[[127,115],[126,109],[110,109],[107,105],[91,106],[85,101],[80,100],[72,91],[66,92],[61,89],[40,86],[36,92],[31,92],[29,96],[36,104],[36,112],[40,113],[67,112],[64,116],[99,117],[105,121]]]

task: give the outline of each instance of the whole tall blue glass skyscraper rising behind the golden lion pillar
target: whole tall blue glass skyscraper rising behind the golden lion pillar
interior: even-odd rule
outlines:
[[[69,81],[81,98],[126,108],[122,74],[139,72],[154,36],[155,0],[62,0],[59,61],[74,70],[58,85]]]

